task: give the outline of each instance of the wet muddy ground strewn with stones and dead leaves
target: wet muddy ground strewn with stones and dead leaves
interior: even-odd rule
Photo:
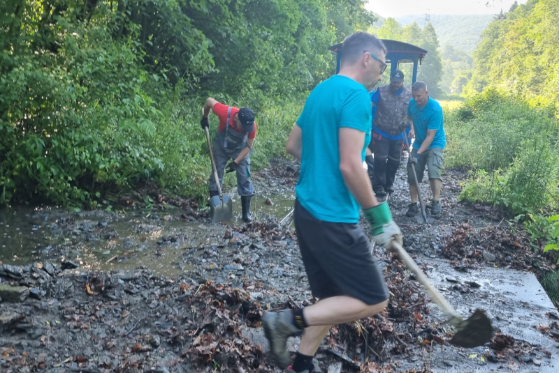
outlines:
[[[263,310],[314,302],[294,231],[279,224],[297,177],[298,165],[284,160],[254,175],[252,224],[238,220],[238,204],[235,222],[211,224],[195,201],[152,185],[124,197],[119,212],[0,211],[1,372],[279,372],[251,335]],[[464,172],[447,170],[444,178],[444,212],[428,224],[405,216],[403,167],[389,197],[405,247],[425,271],[442,258],[456,273],[498,266],[539,275],[550,268],[500,211],[457,201]],[[421,188],[430,195],[428,183]],[[374,252],[391,303],[375,318],[332,328],[317,354],[319,371],[443,372],[444,362],[429,356],[448,346],[453,328],[433,317],[428,296],[400,261],[382,248]],[[445,296],[477,289],[452,286]],[[554,317],[539,326],[549,346],[497,330],[475,359],[461,352],[463,366],[537,370],[559,353]]]

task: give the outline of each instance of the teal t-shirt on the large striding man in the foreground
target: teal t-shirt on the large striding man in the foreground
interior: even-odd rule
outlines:
[[[326,222],[356,223],[359,205],[340,172],[338,130],[365,132],[362,149],[371,139],[371,100],[367,89],[349,77],[334,75],[312,90],[297,119],[302,132],[299,182],[295,188],[301,206]],[[363,170],[365,172],[365,170]]]

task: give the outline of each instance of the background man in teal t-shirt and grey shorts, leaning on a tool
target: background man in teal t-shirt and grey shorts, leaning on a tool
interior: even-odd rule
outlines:
[[[412,217],[419,213],[417,185],[412,172],[415,169],[417,182],[421,183],[426,166],[433,192],[433,201],[426,208],[431,209],[431,215],[440,215],[442,155],[447,138],[444,136],[442,107],[439,102],[429,97],[427,85],[423,82],[415,82],[412,86],[412,100],[407,107],[406,121],[413,123],[410,137],[415,135],[414,149],[407,165],[407,182],[412,203],[409,204],[406,215]]]

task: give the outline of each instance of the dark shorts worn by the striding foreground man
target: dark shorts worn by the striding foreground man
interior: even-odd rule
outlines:
[[[294,216],[312,296],[351,296],[367,305],[389,298],[370,242],[358,224],[317,220],[297,200]]]

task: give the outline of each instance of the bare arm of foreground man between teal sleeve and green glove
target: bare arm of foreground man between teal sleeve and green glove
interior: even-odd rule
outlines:
[[[366,172],[363,172],[363,160],[361,159],[361,146],[356,144],[365,143],[365,132],[353,128],[340,128],[340,172],[344,183],[351,194],[355,197],[361,208],[367,209],[379,204],[372,193],[371,182]]]

